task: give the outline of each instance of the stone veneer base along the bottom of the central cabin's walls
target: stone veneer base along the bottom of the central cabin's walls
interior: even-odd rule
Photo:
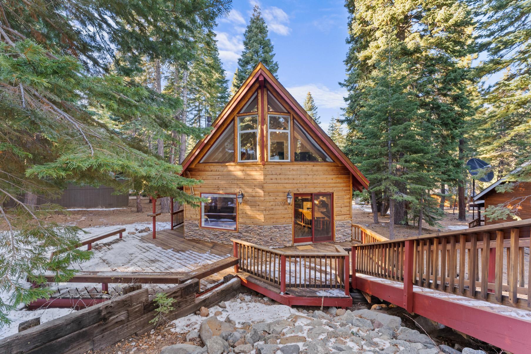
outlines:
[[[232,244],[230,239],[256,243],[267,247],[293,246],[292,225],[238,224],[238,232],[202,229],[198,220],[184,220],[184,238]],[[352,240],[352,222],[336,221],[336,242]]]

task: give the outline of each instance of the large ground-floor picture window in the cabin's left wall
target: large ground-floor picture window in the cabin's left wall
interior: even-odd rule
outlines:
[[[236,230],[236,195],[201,193],[201,226]]]

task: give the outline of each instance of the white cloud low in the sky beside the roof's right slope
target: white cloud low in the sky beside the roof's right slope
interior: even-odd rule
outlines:
[[[302,86],[287,87],[286,89],[301,105],[304,105],[306,94],[310,91],[318,108],[330,108],[339,111],[340,107],[345,106],[343,97],[347,96],[347,90],[344,88],[331,90],[324,85],[309,83]]]

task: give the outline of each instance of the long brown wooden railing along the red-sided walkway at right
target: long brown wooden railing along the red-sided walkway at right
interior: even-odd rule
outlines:
[[[407,276],[423,288],[531,309],[531,272],[524,266],[530,230],[528,219],[354,245],[355,273],[398,282]]]

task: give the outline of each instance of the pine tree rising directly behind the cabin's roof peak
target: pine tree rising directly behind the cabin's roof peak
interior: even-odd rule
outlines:
[[[276,75],[278,63],[273,60],[273,44],[268,38],[268,29],[262,17],[258,5],[254,5],[251,20],[247,25],[243,39],[242,56],[238,58],[238,69],[236,79],[233,80],[233,87],[239,89],[242,83],[251,74],[258,63],[262,62],[269,71]]]

